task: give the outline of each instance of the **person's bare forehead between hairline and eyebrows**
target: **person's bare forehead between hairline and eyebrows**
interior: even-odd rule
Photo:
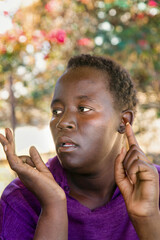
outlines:
[[[67,70],[57,81],[51,106],[55,102],[65,104],[75,101],[92,101],[107,107],[114,104],[107,90],[107,75],[101,70],[80,67]]]

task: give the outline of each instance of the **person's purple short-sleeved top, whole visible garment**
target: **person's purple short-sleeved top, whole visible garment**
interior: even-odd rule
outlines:
[[[138,239],[118,188],[109,203],[90,210],[69,196],[65,170],[58,158],[50,159],[47,166],[67,196],[68,240]],[[156,167],[160,174],[160,166]],[[18,178],[4,190],[0,203],[0,239],[33,239],[41,207],[36,197]]]

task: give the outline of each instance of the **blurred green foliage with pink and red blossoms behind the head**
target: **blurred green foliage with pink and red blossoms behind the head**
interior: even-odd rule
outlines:
[[[49,114],[57,78],[67,60],[81,53],[113,57],[140,91],[154,92],[160,102],[158,1],[41,0],[13,20],[13,29],[0,35],[0,94],[12,75],[18,124],[30,123],[34,107]],[[4,102],[9,98],[0,99],[2,108]],[[8,109],[2,111],[6,116]]]

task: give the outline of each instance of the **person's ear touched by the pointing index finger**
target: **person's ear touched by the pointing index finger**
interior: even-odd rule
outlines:
[[[118,128],[118,132],[120,134],[125,133],[126,123],[129,122],[131,125],[133,124],[134,113],[132,110],[126,110],[122,112],[121,122]]]

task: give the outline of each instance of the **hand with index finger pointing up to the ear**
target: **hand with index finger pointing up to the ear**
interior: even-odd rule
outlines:
[[[123,148],[115,162],[115,179],[131,218],[159,215],[157,169],[140,149],[130,124],[126,125],[129,150]]]

